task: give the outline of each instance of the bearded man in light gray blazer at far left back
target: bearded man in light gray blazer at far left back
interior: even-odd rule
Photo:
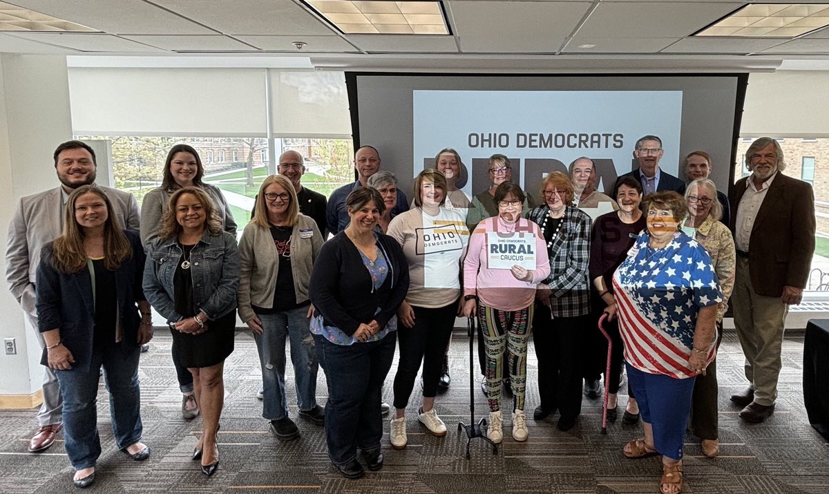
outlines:
[[[61,235],[63,212],[69,194],[75,188],[95,183],[95,151],[80,141],[69,141],[54,153],[55,170],[61,186],[22,197],[8,226],[6,281],[14,298],[26,312],[41,347],[45,345],[37,331],[35,308],[35,274],[41,248]],[[127,229],[138,230],[138,202],[127,192],[100,187],[112,201],[109,214],[118,217]],[[44,451],[55,441],[63,420],[61,389],[53,370],[46,367],[43,376],[43,404],[37,413],[39,429],[29,441],[29,451]]]

